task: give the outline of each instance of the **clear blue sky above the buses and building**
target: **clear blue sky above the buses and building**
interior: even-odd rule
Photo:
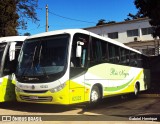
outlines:
[[[39,21],[28,20],[27,30],[18,30],[20,35],[45,32],[46,5],[48,31],[93,27],[100,19],[121,22],[129,13],[137,13],[134,0],[38,0],[36,12]]]

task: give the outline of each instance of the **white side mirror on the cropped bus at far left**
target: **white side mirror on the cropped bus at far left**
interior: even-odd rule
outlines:
[[[16,52],[16,42],[12,42],[9,48],[9,60],[10,61],[15,59],[15,52]]]

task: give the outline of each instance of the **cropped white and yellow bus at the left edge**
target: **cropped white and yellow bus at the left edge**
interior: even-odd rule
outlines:
[[[15,76],[18,55],[26,36],[0,38],[0,102],[16,100]]]

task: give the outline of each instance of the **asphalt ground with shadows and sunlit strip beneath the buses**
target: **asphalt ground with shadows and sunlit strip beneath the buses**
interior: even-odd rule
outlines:
[[[160,122],[160,97],[112,97],[96,107],[0,103],[0,121],[129,121]]]

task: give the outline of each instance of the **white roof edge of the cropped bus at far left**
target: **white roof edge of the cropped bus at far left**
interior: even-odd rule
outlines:
[[[2,42],[12,42],[12,41],[24,41],[28,36],[8,36],[0,37],[0,43]]]

